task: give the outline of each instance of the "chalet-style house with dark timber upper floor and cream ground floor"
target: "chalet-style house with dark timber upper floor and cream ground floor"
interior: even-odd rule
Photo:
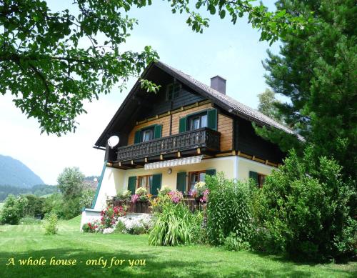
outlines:
[[[141,76],[161,86],[148,93],[137,81],[106,126],[95,148],[104,154],[104,167],[91,209],[82,222],[99,217],[107,197],[125,189],[146,187],[157,194],[163,186],[188,192],[206,174],[224,172],[228,179],[264,177],[284,154],[254,132],[252,122],[290,129],[226,95],[226,80],[202,84],[156,61]],[[119,136],[111,148],[108,139]]]

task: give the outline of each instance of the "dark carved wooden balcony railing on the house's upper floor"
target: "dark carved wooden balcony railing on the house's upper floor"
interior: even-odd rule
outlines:
[[[118,161],[154,157],[171,152],[183,152],[190,149],[204,148],[218,152],[221,134],[206,127],[180,134],[154,139],[118,149]]]

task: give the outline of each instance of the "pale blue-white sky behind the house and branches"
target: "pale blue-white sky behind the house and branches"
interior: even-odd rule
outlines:
[[[53,11],[71,10],[71,0],[48,1]],[[259,41],[258,30],[246,19],[236,25],[228,18],[210,17],[210,27],[197,34],[186,25],[186,14],[171,14],[166,1],[153,1],[152,6],[129,11],[139,25],[123,45],[123,50],[141,51],[150,45],[158,51],[160,60],[209,85],[217,74],[226,80],[226,94],[253,108],[258,106],[258,94],[267,88],[261,61],[266,49],[278,53],[278,43],[269,46]],[[272,1],[266,1],[272,3]],[[273,9],[273,5],[269,5]],[[56,184],[65,167],[79,167],[86,176],[99,175],[104,152],[94,149],[96,139],[114,116],[129,93],[127,89],[101,95],[98,101],[86,103],[88,112],[78,116],[74,134],[41,134],[36,119],[27,119],[11,101],[11,95],[0,96],[0,154],[19,159],[41,177],[46,184]]]

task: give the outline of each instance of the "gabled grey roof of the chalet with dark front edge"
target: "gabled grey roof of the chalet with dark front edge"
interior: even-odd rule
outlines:
[[[154,65],[158,66],[163,71],[166,71],[171,76],[174,76],[174,78],[176,78],[178,81],[181,81],[183,84],[190,87],[194,91],[197,91],[199,94],[205,96],[207,99],[211,100],[214,104],[221,106],[223,109],[228,111],[228,113],[235,114],[237,116],[240,116],[243,119],[248,119],[249,121],[254,121],[254,122],[256,122],[256,124],[259,124],[261,126],[273,126],[276,129],[281,129],[288,134],[296,134],[291,129],[288,129],[286,126],[279,124],[277,121],[274,121],[273,119],[262,114],[261,112],[257,111],[256,109],[246,106],[246,104],[242,104],[241,102],[237,101],[236,99],[233,99],[231,96],[227,96],[226,94],[222,94],[219,91],[212,89],[210,86],[207,86],[206,84],[203,84],[202,82],[200,82],[196,79],[193,79],[192,76],[185,74],[182,71],[179,71],[178,69],[173,68],[172,66],[164,64],[162,61],[156,61],[156,62],[150,64],[144,70],[143,74],[141,74],[141,78],[145,78],[145,75],[148,73],[148,71]],[[139,81],[136,81],[136,84],[131,89],[128,96],[126,96],[126,99],[123,101],[123,104],[121,104],[118,111],[116,111],[116,114],[114,115],[113,119],[111,119],[108,126],[106,126],[106,129],[104,129],[103,133],[101,134],[101,136],[99,137],[99,139],[96,142],[97,147],[103,146],[103,140],[106,136],[106,133],[109,131],[109,129],[111,129],[111,126],[114,124],[116,119],[124,111],[124,107],[126,106],[126,103],[133,96],[138,84],[139,84]],[[300,135],[296,134],[296,136],[298,137],[298,139],[303,140],[303,137],[301,137]]]

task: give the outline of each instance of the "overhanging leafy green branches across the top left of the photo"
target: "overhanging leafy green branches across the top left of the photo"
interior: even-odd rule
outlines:
[[[287,31],[306,26],[301,16],[285,11],[268,12],[252,1],[171,1],[172,12],[186,11],[187,23],[202,32],[208,19],[193,11],[206,7],[233,23],[248,14],[261,39],[276,41]],[[130,76],[159,56],[146,46],[143,51],[122,51],[129,31],[137,24],[127,12],[150,5],[151,0],[74,0],[72,11],[51,11],[46,1],[0,0],[0,94],[12,94],[14,103],[39,121],[41,131],[57,135],[75,131],[76,116],[85,113],[84,101],[108,94],[114,85],[124,89]],[[159,86],[141,81],[147,91]]]

